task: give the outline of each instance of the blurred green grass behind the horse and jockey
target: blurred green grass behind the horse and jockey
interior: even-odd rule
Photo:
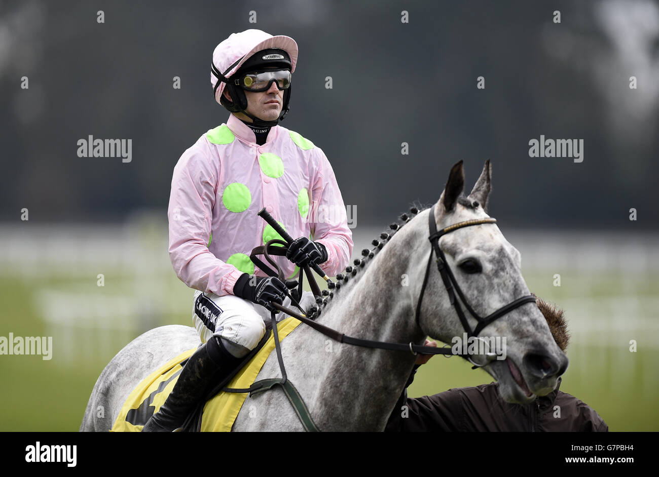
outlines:
[[[553,287],[548,274],[526,276],[529,288],[538,295],[556,301],[579,298],[584,303],[598,303],[610,295],[619,295],[620,278],[615,274],[583,276],[563,274],[563,286]],[[161,324],[190,324],[192,291],[179,282],[173,273],[163,278],[165,286],[150,299],[165,300],[167,313],[142,321],[142,326]],[[628,277],[625,280],[631,280]],[[127,274],[106,274],[105,291],[137,295],[134,282]],[[659,296],[657,277],[639,277],[625,283],[623,289],[633,290],[641,303],[645,297]],[[96,280],[65,280],[53,271],[37,284],[16,278],[0,278],[0,336],[47,336],[65,333],[44,322],[36,306],[41,288],[79,289],[98,293]],[[78,306],[84,307],[85,303]],[[588,305],[590,306],[590,305]],[[643,313],[654,313],[643,305]],[[566,311],[567,313],[567,311]],[[568,320],[580,317],[567,315]],[[617,318],[617,317],[614,317]],[[619,318],[623,320],[624,318]],[[596,323],[596,321],[594,321]],[[69,330],[74,336],[73,349],[61,349],[61,339],[53,338],[53,359],[44,361],[40,356],[0,355],[0,431],[76,431],[80,426],[90,392],[107,362],[130,339],[144,330],[136,324],[134,329],[118,332],[76,328]],[[594,330],[596,332],[598,330]],[[637,353],[630,353],[627,336],[621,336],[618,345],[594,345],[573,337],[568,348],[570,366],[563,377],[561,390],[575,395],[593,407],[612,431],[659,430],[658,357],[649,341],[654,334],[639,334]],[[59,336],[59,335],[57,335]],[[103,339],[101,339],[103,338]],[[643,341],[643,340],[646,341]],[[105,343],[101,346],[100,343]],[[84,353],[83,353],[84,350]],[[80,356],[64,359],[67,353]],[[412,397],[434,394],[449,388],[474,386],[491,382],[482,370],[471,370],[465,361],[452,357],[434,357],[422,366],[409,389]]]

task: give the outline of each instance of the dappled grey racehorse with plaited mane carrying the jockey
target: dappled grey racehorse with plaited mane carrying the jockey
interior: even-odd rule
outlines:
[[[438,230],[465,220],[488,218],[491,166],[485,163],[471,193],[463,195],[462,161],[455,164],[432,210]],[[422,344],[426,336],[451,343],[463,325],[440,273],[430,268],[418,323],[415,311],[430,254],[431,209],[407,220],[386,246],[354,278],[334,290],[317,321],[348,336]],[[460,228],[440,239],[447,264],[476,313],[485,316],[529,295],[521,258],[496,224]],[[478,270],[463,271],[464,264]],[[476,319],[467,313],[472,328]],[[503,399],[529,403],[550,393],[567,368],[540,310],[526,303],[488,324],[480,336],[506,338],[506,358],[484,370],[500,383]],[[162,326],[134,339],[119,351],[96,382],[81,431],[107,431],[140,380],[176,355],[200,344],[188,326]],[[301,324],[281,343],[288,379],[298,389],[322,431],[381,431],[415,363],[413,353],[357,347],[331,341]],[[257,380],[281,376],[275,353]],[[102,412],[100,412],[102,410]],[[99,416],[103,417],[99,417]],[[304,428],[281,389],[247,397],[234,431],[302,431]]]

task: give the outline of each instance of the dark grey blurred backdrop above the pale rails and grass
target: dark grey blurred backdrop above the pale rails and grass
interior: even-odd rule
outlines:
[[[460,159],[471,186],[491,159],[492,207],[508,224],[629,228],[635,207],[631,226],[656,229],[658,10],[644,0],[2,2],[0,220],[23,207],[49,222],[165,209],[181,153],[228,116],[210,86],[215,45],[259,28],[299,44],[282,125],[324,149],[361,220],[436,201]],[[90,134],[132,139],[132,162],[78,158]],[[583,139],[583,163],[529,157],[541,134]]]

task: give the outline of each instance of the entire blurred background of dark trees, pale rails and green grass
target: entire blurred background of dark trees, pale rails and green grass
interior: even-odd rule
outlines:
[[[117,351],[192,324],[171,175],[227,120],[212,52],[248,28],[299,44],[282,126],[328,156],[354,255],[452,164],[469,191],[490,159],[490,212],[569,323],[561,390],[611,430],[659,430],[657,1],[24,0],[0,1],[0,337],[53,349],[0,355],[0,431],[77,430]],[[78,157],[90,135],[131,139],[132,161]],[[540,136],[583,139],[583,162],[529,157]],[[409,395],[491,380],[435,358]]]

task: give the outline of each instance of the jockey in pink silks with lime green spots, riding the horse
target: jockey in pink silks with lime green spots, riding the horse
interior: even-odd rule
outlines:
[[[295,285],[255,269],[249,258],[254,247],[280,238],[257,216],[260,209],[298,237],[286,257],[273,257],[289,279],[303,264],[334,276],[349,262],[352,233],[327,157],[278,124],[289,112],[297,56],[293,38],[261,30],[231,34],[215,47],[215,101],[231,114],[179,159],[167,213],[169,257],[196,289],[192,320],[202,345],[143,431],[179,428],[208,387],[258,345],[270,301],[290,303],[285,291]]]

